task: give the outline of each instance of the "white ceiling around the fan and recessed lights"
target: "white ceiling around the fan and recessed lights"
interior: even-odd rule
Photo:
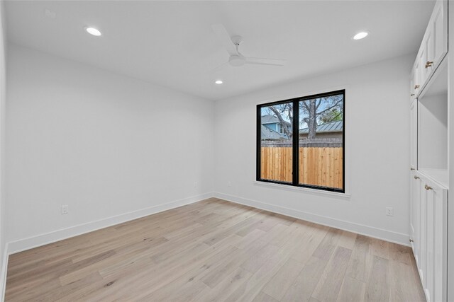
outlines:
[[[218,100],[416,52],[433,1],[6,1],[10,42]],[[45,9],[55,18],[45,16]],[[285,66],[224,66],[211,30],[242,35],[249,57]],[[103,36],[84,32],[85,25]],[[352,40],[367,30],[364,40]],[[221,86],[214,84],[222,79]]]

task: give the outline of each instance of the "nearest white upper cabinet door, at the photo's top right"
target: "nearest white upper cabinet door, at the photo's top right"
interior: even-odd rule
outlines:
[[[448,52],[448,1],[436,1],[431,16],[431,28],[433,28],[433,57],[428,61],[433,62],[435,69],[440,64],[446,52]]]

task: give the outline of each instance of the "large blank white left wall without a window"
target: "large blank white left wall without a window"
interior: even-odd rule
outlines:
[[[7,240],[21,240],[10,251],[212,192],[211,101],[15,45],[9,54]]]

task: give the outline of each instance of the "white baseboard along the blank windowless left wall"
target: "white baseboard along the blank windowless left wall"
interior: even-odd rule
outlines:
[[[161,211],[167,211],[169,209],[174,209],[176,207],[181,207],[186,204],[192,204],[194,202],[199,202],[203,199],[207,199],[210,197],[213,197],[214,194],[213,192],[205,193],[205,194],[200,194],[197,196],[193,197],[187,197],[184,199],[179,199],[174,202],[167,202],[165,204],[158,204],[153,207],[148,207],[145,209],[140,209],[136,211],[130,211],[126,214],[120,214],[116,216],[111,216],[105,219],[100,219],[98,221],[92,221],[92,222],[87,222],[87,223],[82,223],[77,226],[71,226],[69,228],[62,228],[57,231],[52,231],[49,233],[43,233],[37,236],[33,237],[28,237],[24,238],[21,240],[16,240],[10,243],[7,243],[9,245],[8,252],[9,255],[16,253],[16,252],[21,252],[23,250],[29,250],[31,248],[37,248],[38,246],[41,245],[46,245],[49,243],[54,243],[59,240],[67,239],[70,237],[82,235],[84,233],[89,233],[92,231],[99,230],[100,228],[106,228],[108,226],[114,226],[118,223],[123,223],[126,221],[131,221],[133,219],[138,219],[144,216],[148,216],[151,214],[156,214]]]

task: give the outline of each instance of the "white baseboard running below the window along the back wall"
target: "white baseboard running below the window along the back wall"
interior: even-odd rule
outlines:
[[[244,204],[246,206],[263,209],[266,211],[272,211],[277,214],[285,216],[291,216],[296,219],[302,219],[314,223],[322,224],[323,226],[331,226],[333,228],[339,228],[344,231],[358,233],[361,235],[386,240],[392,243],[398,243],[400,245],[409,245],[409,235],[404,233],[397,233],[393,231],[387,231],[382,228],[374,228],[372,226],[365,226],[359,223],[353,223],[349,221],[343,221],[341,219],[334,219],[328,216],[321,216],[317,214],[308,213],[297,209],[289,209],[287,207],[276,206],[275,204],[267,204],[265,202],[258,202],[257,200],[247,199],[243,197],[233,196],[230,194],[223,194],[219,192],[214,193],[214,197],[224,199],[229,202],[235,202],[237,204]]]

